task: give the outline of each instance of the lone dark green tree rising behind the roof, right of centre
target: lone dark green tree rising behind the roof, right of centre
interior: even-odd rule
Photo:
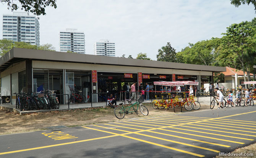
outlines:
[[[162,46],[161,49],[158,49],[158,54],[156,55],[157,61],[167,61],[167,62],[176,62],[176,50],[172,48],[170,42],[166,46]]]

